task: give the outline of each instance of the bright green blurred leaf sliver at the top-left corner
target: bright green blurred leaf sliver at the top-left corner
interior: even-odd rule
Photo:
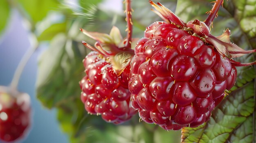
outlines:
[[[10,15],[10,7],[7,0],[0,0],[0,35],[7,25]]]

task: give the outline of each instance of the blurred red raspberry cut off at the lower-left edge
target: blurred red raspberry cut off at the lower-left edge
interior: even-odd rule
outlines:
[[[0,86],[0,139],[11,142],[24,137],[30,117],[29,95]]]

